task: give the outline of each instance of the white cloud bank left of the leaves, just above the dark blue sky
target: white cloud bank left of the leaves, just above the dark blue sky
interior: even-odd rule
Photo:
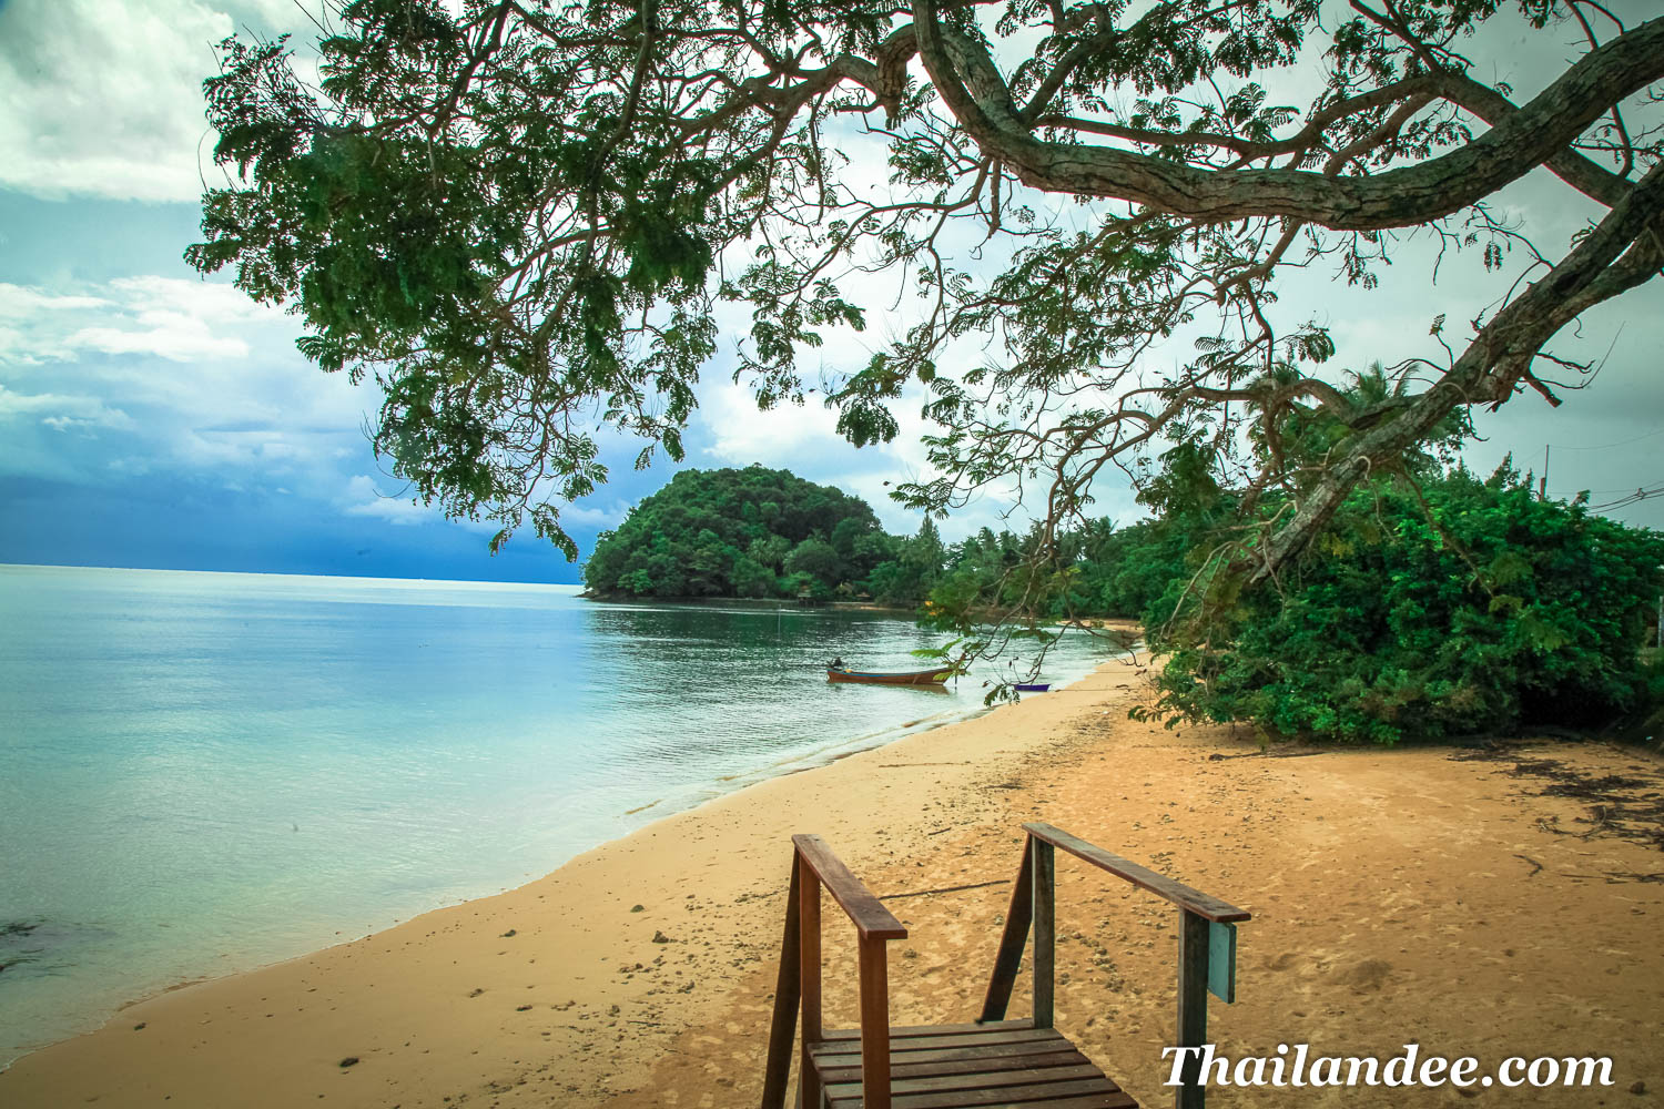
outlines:
[[[364,411],[379,397],[306,362],[296,331],[218,281],[0,284],[0,472],[173,471],[333,502],[343,461],[364,464]],[[55,432],[80,442],[65,449]]]

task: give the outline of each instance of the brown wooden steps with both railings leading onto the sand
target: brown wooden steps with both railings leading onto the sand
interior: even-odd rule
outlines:
[[[762,1109],[785,1109],[792,1041],[800,1044],[799,1109],[1137,1109],[1062,1033],[1052,1028],[1057,966],[1057,850],[1166,898],[1180,909],[1178,1044],[1201,1046],[1206,994],[1235,996],[1235,928],[1248,913],[1097,848],[1052,825],[1023,825],[1028,838],[1012,888],[982,1016],[973,1024],[890,1028],[887,943],[907,929],[820,836],[792,836],[780,976],[764,1072]],[[825,1029],[820,1019],[820,890],[855,924],[860,1028]],[[1033,1016],[1008,1021],[1012,988],[1033,931]],[[797,1036],[794,1036],[797,1033]],[[1200,1062],[1181,1072],[1178,1109],[1201,1109]]]

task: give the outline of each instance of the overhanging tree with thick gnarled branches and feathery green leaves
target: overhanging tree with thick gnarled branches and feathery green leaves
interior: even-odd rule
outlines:
[[[1581,45],[1516,98],[1494,63],[1536,35]],[[764,407],[824,389],[867,444],[925,389],[909,504],[1015,487],[1052,547],[1093,481],[1188,444],[1278,497],[1230,552],[1266,580],[1451,419],[1556,401],[1544,366],[1587,366],[1546,344],[1664,264],[1664,18],[1594,0],[353,0],[318,52],[310,83],[283,42],[221,45],[231,176],[188,259],[379,381],[414,495],[569,555],[557,500],[612,432],[681,457],[734,304]],[[1493,211],[1538,168],[1597,208],[1569,243]],[[1280,276],[1369,284],[1404,228],[1481,251],[1496,303],[1361,401]]]

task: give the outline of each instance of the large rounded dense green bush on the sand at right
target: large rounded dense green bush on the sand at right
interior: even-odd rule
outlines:
[[[1173,650],[1158,712],[1268,737],[1374,740],[1597,727],[1644,695],[1664,535],[1539,500],[1506,464],[1356,490],[1276,590]]]

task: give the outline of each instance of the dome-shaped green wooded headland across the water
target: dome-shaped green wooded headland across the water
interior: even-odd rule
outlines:
[[[682,471],[602,532],[584,584],[602,597],[867,597],[917,605],[942,542],[889,535],[872,507],[760,466]]]

